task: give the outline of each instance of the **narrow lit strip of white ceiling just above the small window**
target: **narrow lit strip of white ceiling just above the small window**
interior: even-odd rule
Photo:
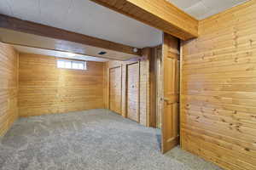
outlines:
[[[88,55],[71,54],[67,52],[54,51],[49,49],[30,48],[30,47],[19,46],[19,45],[13,45],[13,46],[20,53],[41,54],[41,55],[49,55],[54,57],[67,58],[67,59],[81,59],[81,60],[99,61],[99,62],[106,62],[110,60],[110,59],[102,59],[98,57],[91,57]]]

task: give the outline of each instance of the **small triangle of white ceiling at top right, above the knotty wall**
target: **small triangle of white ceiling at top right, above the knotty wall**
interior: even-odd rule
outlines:
[[[167,0],[197,20],[206,19],[247,0]]]

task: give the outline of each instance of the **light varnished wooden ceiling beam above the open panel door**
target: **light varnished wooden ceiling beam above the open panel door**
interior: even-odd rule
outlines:
[[[182,40],[198,37],[198,20],[166,0],[90,0]]]

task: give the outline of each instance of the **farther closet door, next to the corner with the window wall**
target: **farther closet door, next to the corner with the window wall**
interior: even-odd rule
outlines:
[[[121,67],[109,69],[109,110],[122,113],[122,72]]]

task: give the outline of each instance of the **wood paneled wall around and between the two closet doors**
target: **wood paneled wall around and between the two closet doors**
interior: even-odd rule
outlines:
[[[150,53],[150,48],[143,49],[143,57],[139,61],[139,71],[140,71],[140,80],[139,80],[139,123],[143,124],[144,126],[149,126],[149,59],[148,55]],[[109,106],[109,69],[114,67],[121,67],[122,70],[122,108],[121,108],[121,115],[127,117],[126,115],[126,75],[127,69],[126,66],[135,63],[137,60],[131,61],[108,61],[105,66],[105,94],[104,101],[105,107],[108,108]]]

